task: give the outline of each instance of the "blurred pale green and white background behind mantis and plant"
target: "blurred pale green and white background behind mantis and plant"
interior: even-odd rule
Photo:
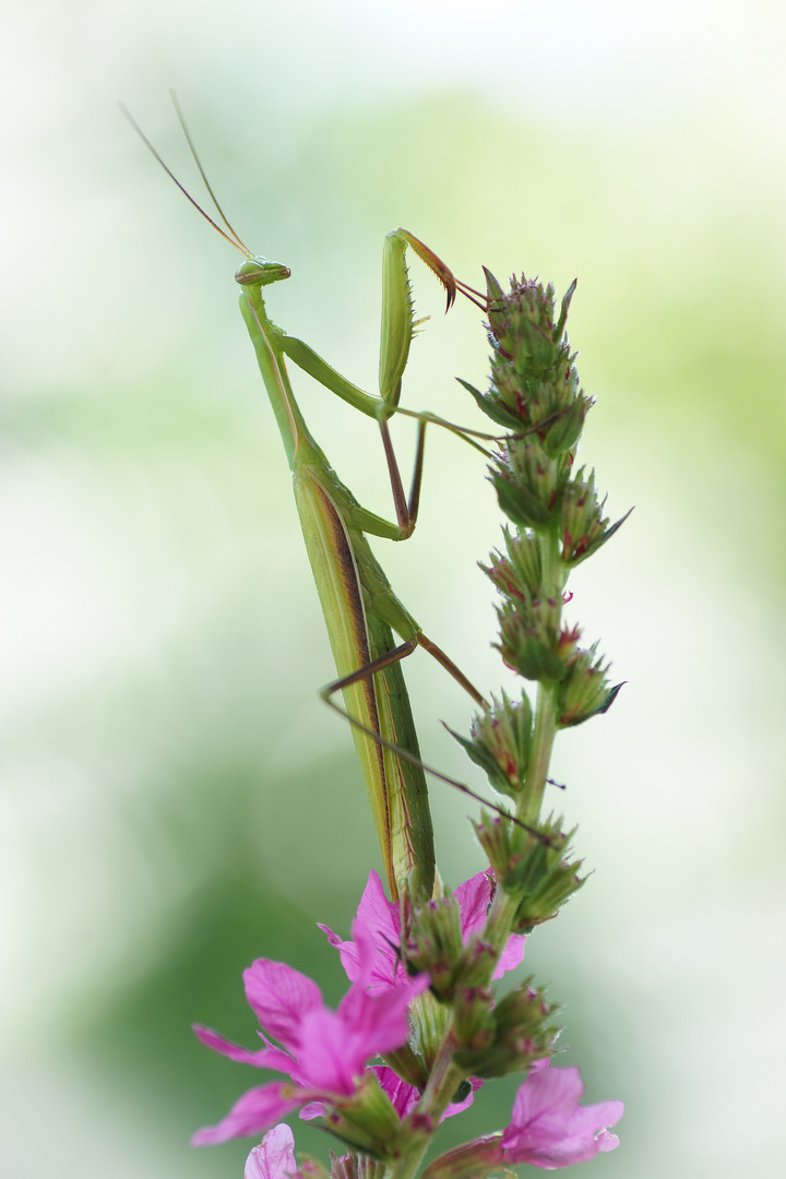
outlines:
[[[333,673],[238,258],[115,107],[198,195],[170,86],[240,235],[292,268],[273,317],[362,384],[396,225],[470,282],[481,263],[560,294],[579,277],[570,336],[597,399],[582,455],[612,518],[636,511],[572,610],[628,683],[560,739],[555,803],[594,875],[528,969],[564,1003],[588,1099],[628,1104],[588,1175],[779,1172],[785,26],[775,0],[7,6],[5,1173],[240,1175],[247,1142],[186,1144],[257,1076],[190,1023],[252,1045],[240,970],[259,955],[335,1002],[315,922],[348,931],[378,864],[349,733],[316,698]],[[432,320],[404,401],[469,424],[453,377],[484,382],[480,316],[442,317],[412,277]],[[374,426],[297,390],[389,514]],[[493,691],[483,475],[431,432],[418,529],[376,547]],[[438,724],[465,725],[465,700],[425,657],[407,673],[428,759],[471,778]],[[481,867],[467,806],[432,797],[456,884]],[[503,1125],[514,1089],[488,1086],[445,1141]]]

